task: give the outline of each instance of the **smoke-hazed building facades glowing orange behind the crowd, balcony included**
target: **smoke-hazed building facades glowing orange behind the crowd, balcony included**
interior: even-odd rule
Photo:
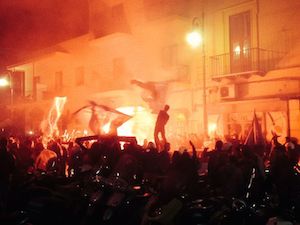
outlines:
[[[138,80],[154,84],[155,100],[171,106],[167,129],[178,146],[206,132],[245,138],[254,111],[268,139],[272,132],[300,138],[296,0],[89,2],[88,34],[8,66],[24,74],[30,101],[18,107],[27,121],[36,111],[45,117],[55,96],[67,96],[70,112],[88,100],[151,112],[147,90],[131,83]],[[195,49],[185,40],[193,29],[203,37]]]

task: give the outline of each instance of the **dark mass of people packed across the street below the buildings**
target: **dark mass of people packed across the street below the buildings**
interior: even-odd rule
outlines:
[[[226,198],[257,202],[266,191],[276,192],[279,214],[292,209],[299,222],[300,145],[290,138],[286,143],[279,143],[275,136],[264,146],[245,146],[239,140],[216,140],[214,149],[201,150],[190,141],[185,149],[172,152],[170,149],[168,142],[157,148],[154,142],[141,146],[134,139],[120,140],[117,136],[92,136],[68,143],[56,139],[47,146],[41,137],[2,136],[0,214],[8,210],[13,194],[11,183],[24,174],[55,170],[57,176],[73,177],[83,168],[102,168],[102,175],[109,176],[118,168],[123,171],[120,176],[129,183],[145,178],[154,185],[160,181],[164,199],[183,190],[201,195],[197,185],[200,176],[206,177],[214,195]]]

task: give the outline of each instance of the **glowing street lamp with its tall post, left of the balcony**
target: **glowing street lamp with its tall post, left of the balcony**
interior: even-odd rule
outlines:
[[[201,57],[202,57],[202,101],[203,101],[203,130],[204,138],[208,137],[207,130],[207,104],[206,104],[206,66],[205,66],[205,49],[204,49],[204,14],[202,13],[202,19],[195,17],[192,21],[193,30],[186,35],[186,41],[192,48],[198,48],[201,45]]]

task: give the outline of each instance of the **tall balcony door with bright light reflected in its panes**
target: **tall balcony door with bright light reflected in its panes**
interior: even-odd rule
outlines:
[[[250,11],[229,17],[231,73],[251,70]]]

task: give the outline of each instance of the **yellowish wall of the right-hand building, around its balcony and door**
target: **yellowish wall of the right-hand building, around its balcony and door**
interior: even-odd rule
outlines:
[[[206,44],[206,54],[214,56],[229,52],[229,16],[238,14],[243,11],[250,11],[251,21],[251,46],[272,51],[274,54],[283,53],[283,58],[277,61],[273,71],[266,71],[264,74],[252,74],[249,76],[231,76],[222,78],[217,82],[210,78],[213,76],[209,68],[208,71],[208,88],[217,89],[224,85],[233,84],[235,88],[235,96],[232,98],[220,98],[217,100],[217,106],[211,106],[213,102],[208,99],[209,113],[218,112],[223,115],[224,132],[230,125],[230,115],[232,113],[248,113],[252,115],[256,110],[261,113],[261,123],[265,134],[271,129],[271,122],[268,118],[268,113],[279,115],[278,123],[280,123],[281,134],[288,134],[288,120],[291,126],[291,135],[300,137],[299,109],[293,108],[288,115],[286,108],[286,100],[289,97],[299,98],[299,25],[300,15],[299,2],[297,1],[207,1],[205,8],[205,32],[209,41]],[[209,64],[209,62],[207,62]],[[292,66],[292,68],[291,68]],[[218,93],[218,91],[216,91]],[[218,95],[218,94],[216,94]],[[273,98],[273,100],[270,100]],[[263,101],[262,105],[253,104],[254,100]],[[224,105],[225,103],[225,105]],[[294,104],[293,104],[294,105]],[[247,106],[247,107],[246,107]],[[224,114],[225,113],[225,114]],[[277,115],[276,114],[276,115]],[[265,116],[267,115],[267,116]],[[250,116],[251,117],[251,116]],[[289,117],[293,119],[288,119]],[[226,119],[227,118],[227,119]],[[281,120],[284,120],[282,122]],[[251,119],[247,123],[250,123]],[[244,123],[241,119],[241,124]],[[226,125],[228,124],[228,125]],[[293,128],[292,128],[293,127]],[[294,130],[293,130],[294,129]]]

